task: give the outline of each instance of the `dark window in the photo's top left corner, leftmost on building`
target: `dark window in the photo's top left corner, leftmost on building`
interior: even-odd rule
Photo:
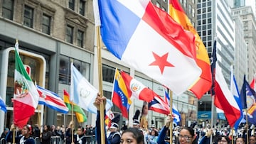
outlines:
[[[2,16],[13,20],[14,15],[14,0],[3,0]]]

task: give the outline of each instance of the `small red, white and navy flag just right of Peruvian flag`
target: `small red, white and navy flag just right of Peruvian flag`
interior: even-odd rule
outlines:
[[[166,104],[166,102],[156,94],[154,99],[149,102],[149,110],[168,115],[170,113],[170,106],[168,106],[168,104]]]

